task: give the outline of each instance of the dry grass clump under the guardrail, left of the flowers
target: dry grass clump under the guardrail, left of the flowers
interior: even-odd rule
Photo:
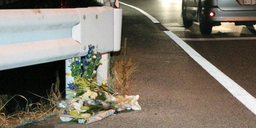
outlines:
[[[41,117],[47,117],[57,114],[59,112],[58,101],[61,98],[59,91],[59,77],[56,78],[56,83],[52,84],[52,88],[47,95],[47,98],[41,97],[41,101],[37,103],[28,104],[28,100],[22,95],[0,95],[0,128],[11,128],[14,126],[21,126],[29,122],[35,121]],[[4,108],[9,101],[15,100],[15,97],[22,97],[27,101],[26,108],[22,111],[17,111],[6,115],[6,109]],[[38,95],[37,95],[38,96]]]

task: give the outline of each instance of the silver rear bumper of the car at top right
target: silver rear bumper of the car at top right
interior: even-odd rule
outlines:
[[[219,8],[211,8],[215,12],[214,17],[209,17],[210,22],[256,22],[256,11],[222,11]]]

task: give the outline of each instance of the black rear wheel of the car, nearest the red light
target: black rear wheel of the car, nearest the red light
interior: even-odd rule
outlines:
[[[210,35],[212,33],[213,25],[208,22],[208,17],[204,9],[200,13],[199,28],[202,35]]]

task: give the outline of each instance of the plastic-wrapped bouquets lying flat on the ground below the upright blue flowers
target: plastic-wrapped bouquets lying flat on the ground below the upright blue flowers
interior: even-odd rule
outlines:
[[[95,88],[93,91],[87,90],[83,95],[69,101],[69,108],[66,108],[63,114],[59,116],[62,121],[84,122],[88,124],[92,120],[98,121],[105,116],[112,115],[115,111],[123,111],[129,108],[141,110],[138,99],[139,95],[111,95],[102,89]]]

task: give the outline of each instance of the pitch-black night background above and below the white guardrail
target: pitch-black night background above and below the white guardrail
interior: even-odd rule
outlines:
[[[60,9],[98,6],[102,4],[95,0],[20,0],[10,4],[4,3],[0,9]],[[42,97],[46,96],[52,84],[55,84],[57,76],[60,79],[62,97],[65,98],[65,60],[0,71],[0,95],[22,95],[29,102],[35,103],[40,100],[40,97],[32,93]],[[26,103],[24,98],[16,96],[6,108],[10,113],[26,107]]]

